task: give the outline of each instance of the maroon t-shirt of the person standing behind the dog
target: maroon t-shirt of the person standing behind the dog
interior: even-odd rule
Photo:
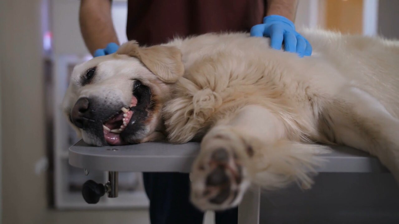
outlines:
[[[247,31],[261,24],[264,0],[128,0],[126,35],[140,45],[165,43],[220,31]]]

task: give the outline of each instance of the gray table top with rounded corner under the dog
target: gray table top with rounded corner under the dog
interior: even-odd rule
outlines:
[[[344,146],[330,147],[333,151],[322,155],[327,162],[319,172],[387,172],[377,158],[367,153]],[[69,164],[99,171],[188,173],[198,152],[197,142],[96,147],[79,141],[69,149]]]

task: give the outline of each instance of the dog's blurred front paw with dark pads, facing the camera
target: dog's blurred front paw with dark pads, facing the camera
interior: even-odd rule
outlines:
[[[236,206],[249,186],[242,160],[232,149],[219,147],[199,157],[191,174],[191,200],[201,210]]]

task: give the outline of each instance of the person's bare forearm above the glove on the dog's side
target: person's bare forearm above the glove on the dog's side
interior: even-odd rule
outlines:
[[[266,16],[284,16],[294,22],[297,5],[297,0],[267,0]]]

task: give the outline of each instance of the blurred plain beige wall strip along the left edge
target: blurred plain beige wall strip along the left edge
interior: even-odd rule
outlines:
[[[46,209],[39,0],[2,0],[3,223],[40,223]]]

